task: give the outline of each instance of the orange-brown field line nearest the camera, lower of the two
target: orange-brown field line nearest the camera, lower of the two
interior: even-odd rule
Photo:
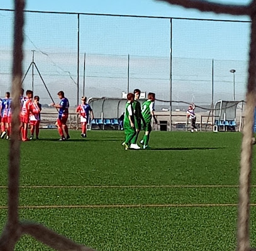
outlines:
[[[19,206],[19,209],[50,209],[50,208],[169,208],[169,207],[216,207],[237,206],[235,203],[226,204],[140,204],[140,205],[43,205],[43,206]],[[250,204],[256,206],[256,204]],[[0,209],[8,209],[8,206],[0,206]]]

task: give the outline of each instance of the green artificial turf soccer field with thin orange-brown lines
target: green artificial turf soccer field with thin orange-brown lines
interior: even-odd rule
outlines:
[[[121,131],[70,136],[58,142],[57,130],[45,130],[39,141],[21,142],[21,220],[102,251],[235,250],[242,134],[152,132],[152,149],[138,151],[125,151]],[[8,141],[0,148],[3,227]],[[252,206],[252,246],[255,218]],[[51,249],[24,236],[15,250]]]

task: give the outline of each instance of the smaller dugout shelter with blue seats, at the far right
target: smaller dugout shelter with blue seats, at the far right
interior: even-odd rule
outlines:
[[[242,101],[243,102],[243,101]],[[213,131],[237,131],[237,105],[240,101],[219,100],[214,105]],[[242,105],[243,109],[243,105]],[[242,112],[240,120],[242,119]]]

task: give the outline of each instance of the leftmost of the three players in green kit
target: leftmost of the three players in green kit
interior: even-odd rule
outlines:
[[[127,94],[127,103],[125,105],[125,117],[123,120],[123,128],[125,129],[125,142],[123,146],[125,150],[130,148],[131,139],[135,136],[134,110],[133,110],[134,94]]]

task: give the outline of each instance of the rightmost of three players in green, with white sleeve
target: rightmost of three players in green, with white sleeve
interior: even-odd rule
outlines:
[[[155,117],[154,111],[155,111],[155,93],[149,92],[148,100],[143,102],[142,104],[142,116],[145,120],[145,127],[144,127],[145,135],[142,141],[140,141],[140,143],[143,144],[143,149],[150,149],[150,147],[148,146],[148,141],[149,141],[150,132],[152,131],[152,127],[151,127],[152,117],[155,120],[155,124],[157,124],[157,119]]]

